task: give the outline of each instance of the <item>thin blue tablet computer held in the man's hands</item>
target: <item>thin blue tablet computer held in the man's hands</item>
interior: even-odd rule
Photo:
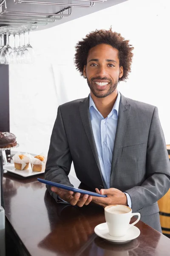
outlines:
[[[53,182],[53,181],[43,180],[43,179],[40,179],[40,178],[37,178],[37,180],[42,182],[42,183],[45,183],[47,185],[50,185],[50,186],[56,186],[57,188],[60,188],[60,189],[66,189],[66,190],[73,191],[73,192],[79,192],[79,193],[85,194],[85,195],[92,195],[92,196],[98,196],[98,197],[107,197],[107,195],[100,195],[98,193],[91,192],[91,191],[84,190],[84,189],[76,189],[74,187],[62,185],[60,183],[56,183],[56,182]]]

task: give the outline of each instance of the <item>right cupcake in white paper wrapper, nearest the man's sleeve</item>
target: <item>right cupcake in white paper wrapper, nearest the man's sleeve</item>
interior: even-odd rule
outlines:
[[[31,168],[33,172],[43,172],[45,170],[46,157],[37,155],[31,158]]]

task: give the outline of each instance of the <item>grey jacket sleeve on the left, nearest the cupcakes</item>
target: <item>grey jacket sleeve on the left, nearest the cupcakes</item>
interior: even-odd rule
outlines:
[[[68,174],[71,169],[71,163],[71,153],[59,106],[57,111],[57,118],[51,134],[44,175],[45,180],[50,180],[67,186],[73,186],[68,178]],[[47,185],[46,187],[50,194],[57,201],[57,195],[51,191],[51,186]]]

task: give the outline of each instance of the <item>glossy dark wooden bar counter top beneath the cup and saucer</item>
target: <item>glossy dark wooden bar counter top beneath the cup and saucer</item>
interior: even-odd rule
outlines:
[[[100,239],[94,227],[105,222],[103,208],[57,204],[37,177],[3,177],[6,247],[13,241],[18,256],[170,256],[170,239],[142,221],[141,235],[127,244]]]

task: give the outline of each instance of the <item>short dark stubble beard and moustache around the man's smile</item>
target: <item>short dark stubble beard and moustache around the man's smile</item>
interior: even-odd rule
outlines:
[[[96,89],[95,89],[94,82],[93,82],[94,79],[100,79],[100,80],[108,80],[108,81],[110,81],[109,87],[108,87],[107,91],[106,91],[106,90],[96,90]],[[108,78],[106,78],[106,77],[104,77],[104,78],[102,78],[102,79],[99,78],[99,77],[97,77],[97,78],[94,78],[94,79],[92,79],[91,81],[89,81],[88,78],[87,78],[87,83],[88,83],[88,86],[89,86],[91,92],[92,92],[92,93],[94,94],[94,96],[96,96],[97,98],[104,98],[104,97],[110,95],[111,93],[113,93],[113,92],[116,90],[117,85],[118,85],[118,83],[119,83],[119,79],[117,79],[114,83],[111,81],[111,79],[108,79]]]

